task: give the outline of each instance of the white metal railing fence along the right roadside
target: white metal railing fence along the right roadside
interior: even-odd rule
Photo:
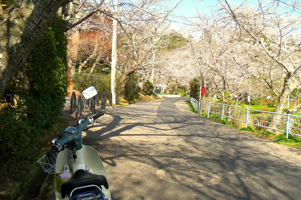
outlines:
[[[192,97],[190,97],[189,101],[194,109],[197,109],[199,114],[206,112],[207,117],[209,117],[211,113],[221,116],[222,120],[225,117],[234,119],[238,124],[245,125],[246,127],[248,125],[254,125],[275,131],[282,131],[286,133],[287,138],[289,134],[301,137],[301,116],[254,110],[203,100],[198,102]],[[274,123],[270,122],[272,118],[275,119]]]

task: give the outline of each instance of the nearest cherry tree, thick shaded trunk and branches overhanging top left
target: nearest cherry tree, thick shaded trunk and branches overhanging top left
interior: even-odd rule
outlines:
[[[130,26],[138,30],[140,22],[167,19],[166,16],[171,12],[166,7],[169,2],[123,1],[120,3],[122,9],[117,12],[111,10],[113,5],[110,1],[105,3],[103,0],[14,0],[10,5],[0,6],[0,96],[61,7],[66,31],[75,31],[78,26],[82,26],[81,29],[88,29],[92,25],[99,28],[99,21],[95,19],[101,14],[118,19],[122,29]]]

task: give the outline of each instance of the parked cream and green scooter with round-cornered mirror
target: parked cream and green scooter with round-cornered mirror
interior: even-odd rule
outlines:
[[[90,99],[97,95],[97,91],[91,86],[82,94],[85,99]],[[53,147],[46,155],[51,158],[59,151],[54,174],[56,200],[111,200],[107,174],[98,152],[82,144],[82,131],[87,130],[86,126],[96,122],[102,115],[103,112],[100,112],[79,120],[77,124],[62,129],[59,140],[53,140]],[[61,150],[65,145],[67,147]]]

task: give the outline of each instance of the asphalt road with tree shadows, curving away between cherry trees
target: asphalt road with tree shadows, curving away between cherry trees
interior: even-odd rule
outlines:
[[[299,149],[203,118],[187,100],[106,109],[85,132],[83,143],[103,154],[113,200],[301,199]]]

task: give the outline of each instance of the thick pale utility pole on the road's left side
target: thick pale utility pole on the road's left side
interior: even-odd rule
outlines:
[[[114,0],[113,10],[117,11],[118,0]],[[116,8],[115,8],[116,7]],[[114,17],[117,15],[114,14]],[[112,64],[111,64],[111,93],[112,103],[116,104],[116,77],[117,77],[117,20],[113,18],[113,38],[112,38]]]

